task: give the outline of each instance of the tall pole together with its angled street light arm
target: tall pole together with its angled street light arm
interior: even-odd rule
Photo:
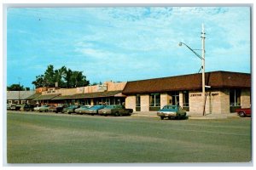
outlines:
[[[197,54],[195,52],[194,49],[189,48],[189,46],[187,44],[185,44],[184,42],[179,42],[178,45],[179,46],[186,46],[187,48],[189,48],[190,51],[192,51],[199,59],[201,59],[201,79],[202,79],[202,99],[203,99],[203,103],[204,103],[204,109],[203,109],[203,116],[205,116],[205,109],[206,109],[206,81],[205,81],[205,28],[204,25],[202,24],[202,31],[201,31],[201,55]]]

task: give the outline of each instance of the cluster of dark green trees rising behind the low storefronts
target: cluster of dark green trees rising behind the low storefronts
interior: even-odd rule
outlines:
[[[75,88],[89,85],[89,81],[83,75],[83,71],[72,71],[62,66],[55,70],[53,65],[48,65],[44,75],[39,75],[32,82],[36,88],[40,87],[55,87],[55,82],[58,82],[60,88]]]

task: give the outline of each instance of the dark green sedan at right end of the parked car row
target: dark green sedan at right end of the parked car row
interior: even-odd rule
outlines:
[[[108,116],[131,116],[132,109],[125,109],[124,105],[107,105],[104,109],[98,111],[100,115]]]

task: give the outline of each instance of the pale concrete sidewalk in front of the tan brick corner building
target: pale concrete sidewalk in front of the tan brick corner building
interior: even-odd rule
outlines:
[[[156,115],[156,111],[135,111],[131,116],[140,116],[140,117],[159,117]],[[205,119],[227,119],[229,117],[239,117],[236,113],[230,114],[208,114],[206,116],[201,115],[187,115],[189,119],[205,120]]]

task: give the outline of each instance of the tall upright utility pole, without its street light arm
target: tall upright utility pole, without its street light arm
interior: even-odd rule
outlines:
[[[206,33],[205,33],[205,27],[204,24],[201,25],[201,69],[202,69],[202,74],[201,74],[201,81],[202,81],[202,98],[203,98],[203,116],[206,114],[206,80],[205,80],[205,39],[206,39]]]

